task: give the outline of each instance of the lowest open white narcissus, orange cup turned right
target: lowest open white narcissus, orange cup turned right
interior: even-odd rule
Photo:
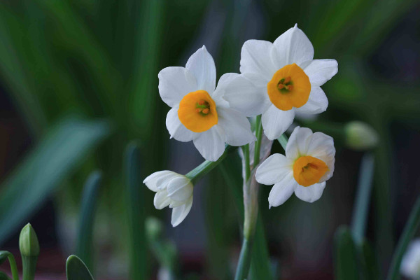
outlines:
[[[325,181],[334,172],[335,148],[332,137],[309,128],[296,127],[286,146],[286,156],[271,155],[258,167],[258,183],[274,185],[269,193],[269,207],[276,207],[295,193],[305,202],[318,200]]]

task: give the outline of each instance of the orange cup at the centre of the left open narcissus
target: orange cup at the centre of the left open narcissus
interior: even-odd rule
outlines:
[[[190,92],[179,103],[178,117],[188,130],[205,132],[218,123],[216,103],[205,90]]]

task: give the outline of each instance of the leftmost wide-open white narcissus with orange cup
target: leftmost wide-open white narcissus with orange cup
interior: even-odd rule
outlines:
[[[253,141],[246,116],[223,99],[226,85],[234,77],[223,75],[216,88],[216,66],[204,45],[191,55],[186,68],[160,71],[160,97],[172,107],[166,120],[171,138],[193,141],[203,158],[211,161],[221,157],[225,143],[242,146]]]

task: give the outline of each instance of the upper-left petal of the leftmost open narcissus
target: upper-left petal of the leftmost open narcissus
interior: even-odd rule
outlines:
[[[159,94],[163,102],[171,107],[181,102],[183,97],[197,90],[193,73],[183,67],[167,67],[158,73]]]

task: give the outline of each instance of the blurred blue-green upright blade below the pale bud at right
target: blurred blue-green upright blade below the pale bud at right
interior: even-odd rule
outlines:
[[[356,244],[361,244],[365,236],[373,173],[374,157],[372,153],[367,153],[363,156],[362,164],[360,165],[356,204],[353,208],[353,221],[351,223],[351,232]]]

